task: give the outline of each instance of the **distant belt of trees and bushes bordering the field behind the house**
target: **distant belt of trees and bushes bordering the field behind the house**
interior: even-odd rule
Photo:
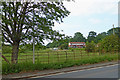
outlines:
[[[68,43],[69,42],[86,42],[86,50],[88,52],[94,52],[94,50],[102,50],[103,48],[105,51],[112,50],[111,48],[116,48],[120,50],[120,46],[115,46],[115,45],[120,45],[120,27],[114,28],[115,31],[115,36],[113,34],[113,28],[108,30],[107,32],[102,32],[97,34],[94,31],[90,31],[87,38],[83,36],[82,33],[76,32],[73,37],[71,36],[66,36],[63,39],[60,39],[59,41],[54,40],[51,43],[48,43],[46,46],[37,43],[35,44],[35,50],[40,50],[40,49],[46,49],[46,48],[55,48],[58,47],[60,49],[68,49]],[[112,43],[114,42],[114,43]],[[112,43],[112,44],[111,44]],[[103,46],[104,45],[104,46]],[[107,45],[110,45],[109,47]],[[95,48],[96,46],[99,46]],[[4,48],[5,47],[5,48]],[[20,45],[19,52],[26,52],[26,51],[32,51],[33,49],[33,44],[22,44]],[[10,53],[12,48],[9,46],[3,46],[3,53]]]

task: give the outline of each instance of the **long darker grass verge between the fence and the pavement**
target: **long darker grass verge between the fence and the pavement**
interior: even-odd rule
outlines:
[[[18,63],[16,65],[9,65],[7,63],[3,63],[2,74],[9,73],[19,73],[19,72],[27,72],[27,71],[35,71],[35,70],[45,70],[45,69],[61,69],[65,67],[72,67],[74,65],[84,65],[84,64],[95,64],[103,61],[112,61],[117,60],[118,55],[100,55],[100,56],[90,56],[86,58],[82,58],[80,60],[66,60],[64,62],[57,63],[49,63],[44,64],[37,61],[35,64],[32,64],[32,61],[27,61],[23,63]]]

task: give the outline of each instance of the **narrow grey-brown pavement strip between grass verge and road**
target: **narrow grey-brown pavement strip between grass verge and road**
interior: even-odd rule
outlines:
[[[35,71],[35,72],[26,72],[26,73],[14,73],[14,74],[8,74],[8,75],[3,75],[3,80],[4,79],[12,79],[12,80],[18,80],[18,79],[28,79],[28,78],[35,78],[35,77],[42,77],[42,76],[47,76],[47,75],[54,75],[58,73],[67,73],[67,72],[72,72],[72,71],[77,71],[77,70],[84,70],[84,69],[91,69],[91,68],[96,68],[96,67],[103,67],[103,66],[109,66],[109,65],[115,65],[118,64],[117,61],[112,61],[112,62],[99,62],[97,64],[90,64],[90,65],[82,65],[82,66],[73,66],[73,67],[68,67],[68,68],[62,68],[62,69],[57,69],[57,70],[43,70],[43,71]]]

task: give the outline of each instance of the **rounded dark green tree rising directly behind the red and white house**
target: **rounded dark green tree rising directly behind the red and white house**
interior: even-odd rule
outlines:
[[[83,34],[81,34],[80,32],[76,32],[71,41],[72,42],[85,42],[86,39],[85,39],[85,37],[83,37]]]

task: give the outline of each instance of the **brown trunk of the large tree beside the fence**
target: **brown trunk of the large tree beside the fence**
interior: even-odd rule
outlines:
[[[17,64],[18,62],[18,51],[19,51],[19,43],[15,43],[12,45],[12,57],[11,57],[11,63]]]

